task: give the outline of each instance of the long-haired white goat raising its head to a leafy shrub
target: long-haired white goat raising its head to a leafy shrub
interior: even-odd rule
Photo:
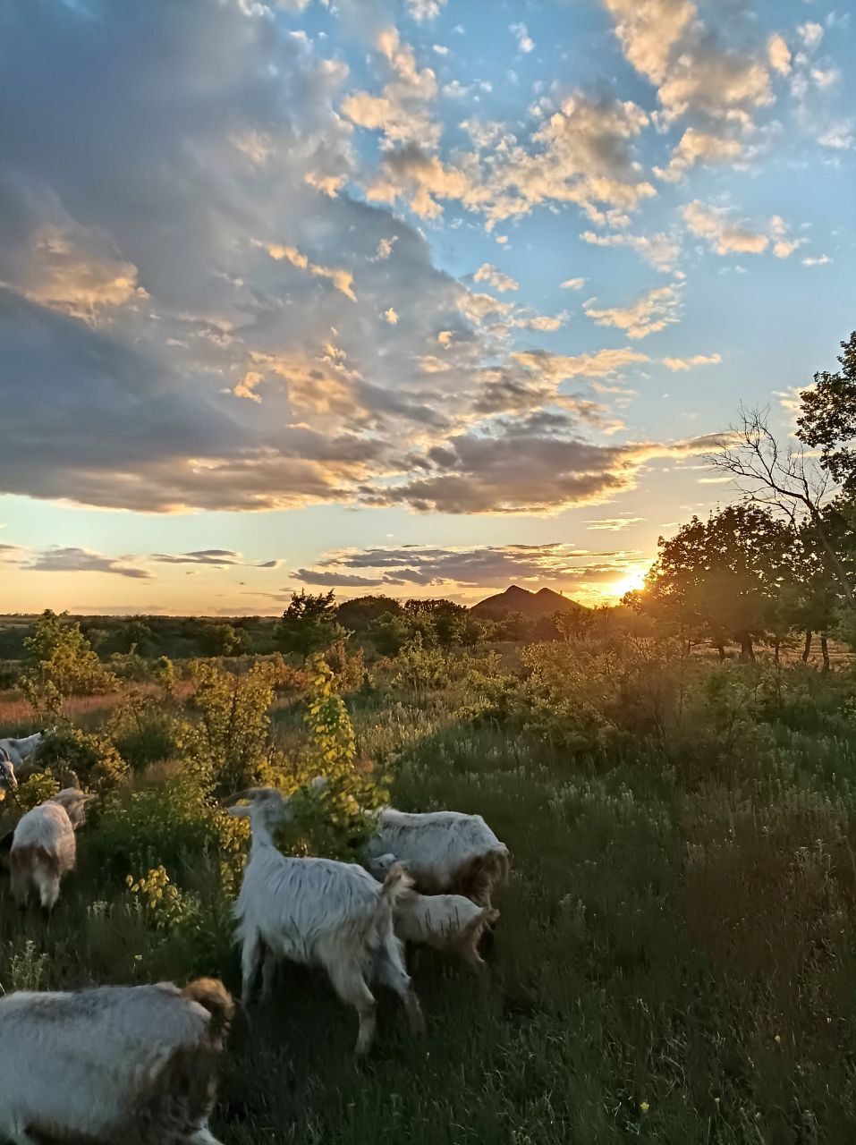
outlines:
[[[248,806],[235,806],[247,799]],[[419,1001],[393,930],[393,908],[410,881],[394,867],[383,885],[356,863],[294,859],[277,850],[272,831],[287,819],[287,802],[274,788],[251,788],[225,800],[232,815],[248,816],[253,832],[235,917],[243,943],[243,1000],[247,1004],[264,953],[263,996],[278,958],[323,966],[343,1002],[359,1016],[357,1053],[374,1036],[375,1002],[368,981],[402,998],[411,1029],[422,1029]]]

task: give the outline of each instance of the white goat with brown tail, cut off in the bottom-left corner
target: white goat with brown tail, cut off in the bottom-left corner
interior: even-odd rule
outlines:
[[[233,1003],[199,979],[0,1001],[0,1138],[219,1145],[208,1130]]]

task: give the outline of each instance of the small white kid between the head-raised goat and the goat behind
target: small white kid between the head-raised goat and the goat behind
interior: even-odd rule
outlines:
[[[396,861],[393,854],[381,855],[372,860],[371,871],[377,879],[383,879]],[[455,951],[470,965],[481,966],[478,943],[485,926],[499,918],[499,911],[478,907],[462,894],[419,894],[409,889],[396,902],[393,918],[403,942]]]

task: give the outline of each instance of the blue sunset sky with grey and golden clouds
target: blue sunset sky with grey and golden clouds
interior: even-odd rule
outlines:
[[[854,325],[848,8],[0,0],[0,610],[635,586]]]

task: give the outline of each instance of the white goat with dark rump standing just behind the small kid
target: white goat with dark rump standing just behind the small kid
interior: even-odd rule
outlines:
[[[508,848],[481,815],[459,811],[409,814],[386,807],[368,840],[368,860],[393,853],[426,894],[457,893],[490,907],[493,887],[508,878]]]

